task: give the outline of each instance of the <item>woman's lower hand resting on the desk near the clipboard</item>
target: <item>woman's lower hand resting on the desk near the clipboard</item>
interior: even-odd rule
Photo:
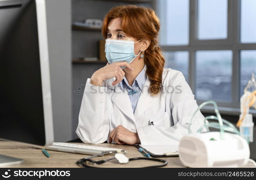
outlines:
[[[108,142],[112,143],[112,140],[118,144],[140,144],[140,138],[138,133],[129,131],[124,126],[119,125],[112,131],[110,131]]]

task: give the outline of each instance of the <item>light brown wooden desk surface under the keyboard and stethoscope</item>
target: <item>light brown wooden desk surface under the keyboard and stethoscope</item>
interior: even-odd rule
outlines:
[[[73,143],[73,144],[83,144],[83,143]],[[126,154],[126,156],[128,158],[144,157],[140,152],[138,152],[138,149],[136,147],[130,146],[130,145],[116,145],[116,144],[103,143],[103,144],[95,144],[94,146],[119,148],[119,149],[127,150],[128,153]],[[24,162],[22,164],[12,165],[12,166],[2,166],[2,167],[13,167],[13,168],[79,167],[76,165],[76,161],[78,159],[88,157],[88,155],[84,155],[84,154],[74,154],[74,153],[65,153],[65,152],[47,150],[48,153],[50,154],[50,158],[47,158],[43,154],[42,149],[36,149],[34,148],[33,145],[10,142],[10,141],[0,141],[0,147],[1,147],[0,154],[24,159]],[[105,156],[103,158],[108,158],[108,157]],[[102,157],[99,157],[98,159],[102,159]],[[161,159],[165,159],[168,161],[168,165],[165,167],[185,167],[180,161],[179,157],[167,157],[167,158],[161,158]],[[145,167],[145,166],[156,165],[157,163],[160,163],[160,162],[139,160],[139,161],[131,161],[128,164],[122,165],[116,161],[110,161],[110,162],[104,163],[103,165],[99,165],[97,167]],[[246,167],[255,167],[255,166],[252,163],[248,163]]]

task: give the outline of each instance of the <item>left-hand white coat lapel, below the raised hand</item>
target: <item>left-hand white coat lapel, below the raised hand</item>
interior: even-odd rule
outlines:
[[[119,86],[115,87],[115,92],[111,96],[111,100],[116,105],[116,107],[120,109],[120,111],[122,111],[131,120],[135,121],[129,95],[127,94],[126,89],[124,91],[121,90],[120,84]]]

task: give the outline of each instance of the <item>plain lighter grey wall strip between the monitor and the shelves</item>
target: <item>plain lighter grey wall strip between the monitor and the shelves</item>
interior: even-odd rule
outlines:
[[[72,139],[71,0],[46,0],[54,140]]]

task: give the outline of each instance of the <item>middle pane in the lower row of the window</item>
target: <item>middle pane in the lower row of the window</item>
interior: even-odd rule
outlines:
[[[232,51],[196,51],[196,97],[231,101]]]

